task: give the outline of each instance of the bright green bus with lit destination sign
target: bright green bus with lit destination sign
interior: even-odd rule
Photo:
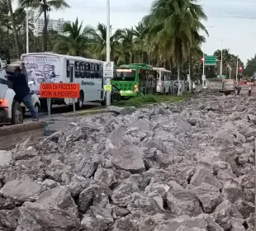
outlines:
[[[124,64],[116,67],[111,84],[120,89],[121,97],[155,94],[158,73],[148,64]]]

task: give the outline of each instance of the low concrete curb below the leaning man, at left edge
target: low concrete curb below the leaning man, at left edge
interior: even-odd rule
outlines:
[[[9,125],[0,127],[0,137],[10,135],[10,134],[19,134],[21,132],[39,130],[44,128],[46,125],[45,121],[38,122],[26,122],[20,125]]]

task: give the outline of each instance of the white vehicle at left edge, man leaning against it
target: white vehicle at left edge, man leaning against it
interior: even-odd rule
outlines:
[[[0,125],[23,123],[21,105],[14,99],[15,92],[7,81],[6,71],[0,67]]]

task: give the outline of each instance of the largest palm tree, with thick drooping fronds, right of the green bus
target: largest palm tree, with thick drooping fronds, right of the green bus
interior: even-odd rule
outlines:
[[[183,56],[189,53],[193,42],[193,31],[206,31],[201,19],[206,20],[206,15],[193,0],[155,0],[150,14],[144,18],[151,40],[164,50],[173,50],[178,79]]]

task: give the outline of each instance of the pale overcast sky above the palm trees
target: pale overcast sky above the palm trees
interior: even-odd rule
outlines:
[[[70,9],[54,12],[50,17],[74,21],[78,16],[84,25],[97,26],[97,22],[106,22],[107,0],[67,0]],[[149,12],[153,0],[110,0],[112,28],[135,26]],[[208,21],[210,37],[206,42],[206,54],[213,54],[220,49],[229,48],[233,54],[239,54],[244,62],[256,54],[256,0],[201,0]]]

